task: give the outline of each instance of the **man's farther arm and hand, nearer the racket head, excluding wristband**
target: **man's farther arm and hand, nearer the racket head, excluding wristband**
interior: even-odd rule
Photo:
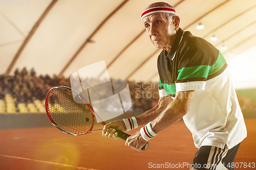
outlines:
[[[136,117],[138,126],[146,125],[148,122],[154,120],[172,102],[173,99],[169,95],[161,97],[155,107]],[[102,130],[102,136],[116,139],[117,133],[115,133],[115,129],[126,131],[123,120],[115,120],[106,124]]]

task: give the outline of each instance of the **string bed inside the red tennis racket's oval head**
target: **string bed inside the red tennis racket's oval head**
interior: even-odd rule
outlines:
[[[78,100],[80,98],[74,101],[72,91],[65,88],[53,89],[48,100],[49,111],[57,125],[74,134],[91,130],[94,123],[86,104]]]

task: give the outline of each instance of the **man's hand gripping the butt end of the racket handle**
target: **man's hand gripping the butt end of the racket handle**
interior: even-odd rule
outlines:
[[[135,132],[132,136],[128,137],[125,141],[126,147],[131,147],[139,152],[141,152],[141,148],[146,144],[146,140],[140,134],[140,131]]]

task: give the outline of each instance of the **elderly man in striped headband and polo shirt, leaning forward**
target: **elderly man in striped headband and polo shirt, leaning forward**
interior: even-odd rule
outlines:
[[[191,169],[233,169],[247,132],[226,60],[209,42],[179,28],[180,18],[169,4],[151,4],[141,19],[152,43],[163,48],[157,61],[159,102],[137,117],[105,125],[102,135],[116,138],[115,129],[144,126],[125,142],[140,151],[183,117],[199,148]]]

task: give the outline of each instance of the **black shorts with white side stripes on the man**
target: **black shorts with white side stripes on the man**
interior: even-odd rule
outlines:
[[[191,167],[204,170],[218,170],[218,169],[228,169],[233,170],[231,167],[234,158],[236,158],[240,143],[227,150],[225,145],[224,149],[212,147],[212,146],[203,146],[200,147],[198,152],[195,155],[193,164]],[[225,166],[225,167],[224,167]]]

